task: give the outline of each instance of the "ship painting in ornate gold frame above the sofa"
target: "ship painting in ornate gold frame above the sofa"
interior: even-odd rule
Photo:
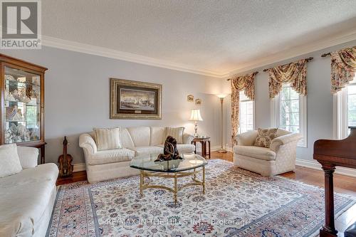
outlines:
[[[160,120],[162,85],[110,78],[110,119]]]

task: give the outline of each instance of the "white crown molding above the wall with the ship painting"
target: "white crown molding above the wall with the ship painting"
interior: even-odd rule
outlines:
[[[144,65],[151,65],[159,68],[167,68],[172,70],[179,70],[186,73],[194,73],[199,75],[206,75],[214,78],[221,78],[221,73],[217,73],[213,70],[195,68],[189,65],[181,63],[172,63],[167,60],[159,60],[157,58],[150,58],[146,56],[140,56],[134,53],[126,53],[122,51],[115,51],[110,48],[103,48],[99,46],[92,46],[86,43],[78,43],[75,41],[67,41],[61,38],[54,38],[51,36],[42,36],[42,45],[61,48],[68,51],[75,51],[79,53],[88,53],[95,56],[102,56],[106,58],[115,58],[119,60],[125,60],[132,63],[140,63]]]

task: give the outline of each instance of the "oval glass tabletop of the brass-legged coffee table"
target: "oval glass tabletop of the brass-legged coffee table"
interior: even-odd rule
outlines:
[[[164,162],[155,162],[159,154],[145,154],[135,157],[130,162],[130,167],[152,172],[182,172],[189,169],[203,167],[208,164],[206,159],[199,154],[181,154],[183,159],[172,159]]]

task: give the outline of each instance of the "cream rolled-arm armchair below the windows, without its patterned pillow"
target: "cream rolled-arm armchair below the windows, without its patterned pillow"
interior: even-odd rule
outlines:
[[[296,149],[301,135],[286,130],[277,130],[271,148],[255,147],[257,131],[244,132],[236,136],[234,164],[242,169],[271,177],[295,170]]]

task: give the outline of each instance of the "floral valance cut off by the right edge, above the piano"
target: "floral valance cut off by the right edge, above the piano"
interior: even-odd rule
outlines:
[[[356,46],[330,53],[331,93],[337,93],[353,80],[356,72]]]

